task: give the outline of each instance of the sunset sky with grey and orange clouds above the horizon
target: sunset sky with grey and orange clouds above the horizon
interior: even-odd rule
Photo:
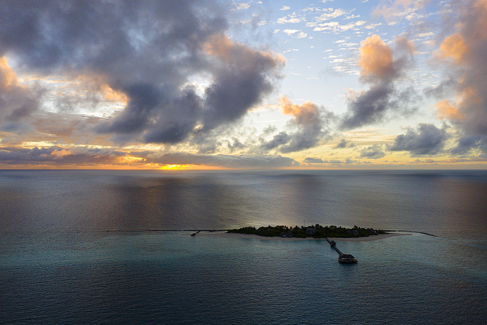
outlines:
[[[4,0],[0,169],[485,169],[487,0]]]

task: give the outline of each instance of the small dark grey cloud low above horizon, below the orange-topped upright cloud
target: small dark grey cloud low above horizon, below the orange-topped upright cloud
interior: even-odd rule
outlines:
[[[444,128],[438,129],[433,124],[421,123],[416,130],[409,128],[406,134],[394,139],[388,146],[390,151],[409,151],[412,156],[438,154],[443,152],[447,133]]]

